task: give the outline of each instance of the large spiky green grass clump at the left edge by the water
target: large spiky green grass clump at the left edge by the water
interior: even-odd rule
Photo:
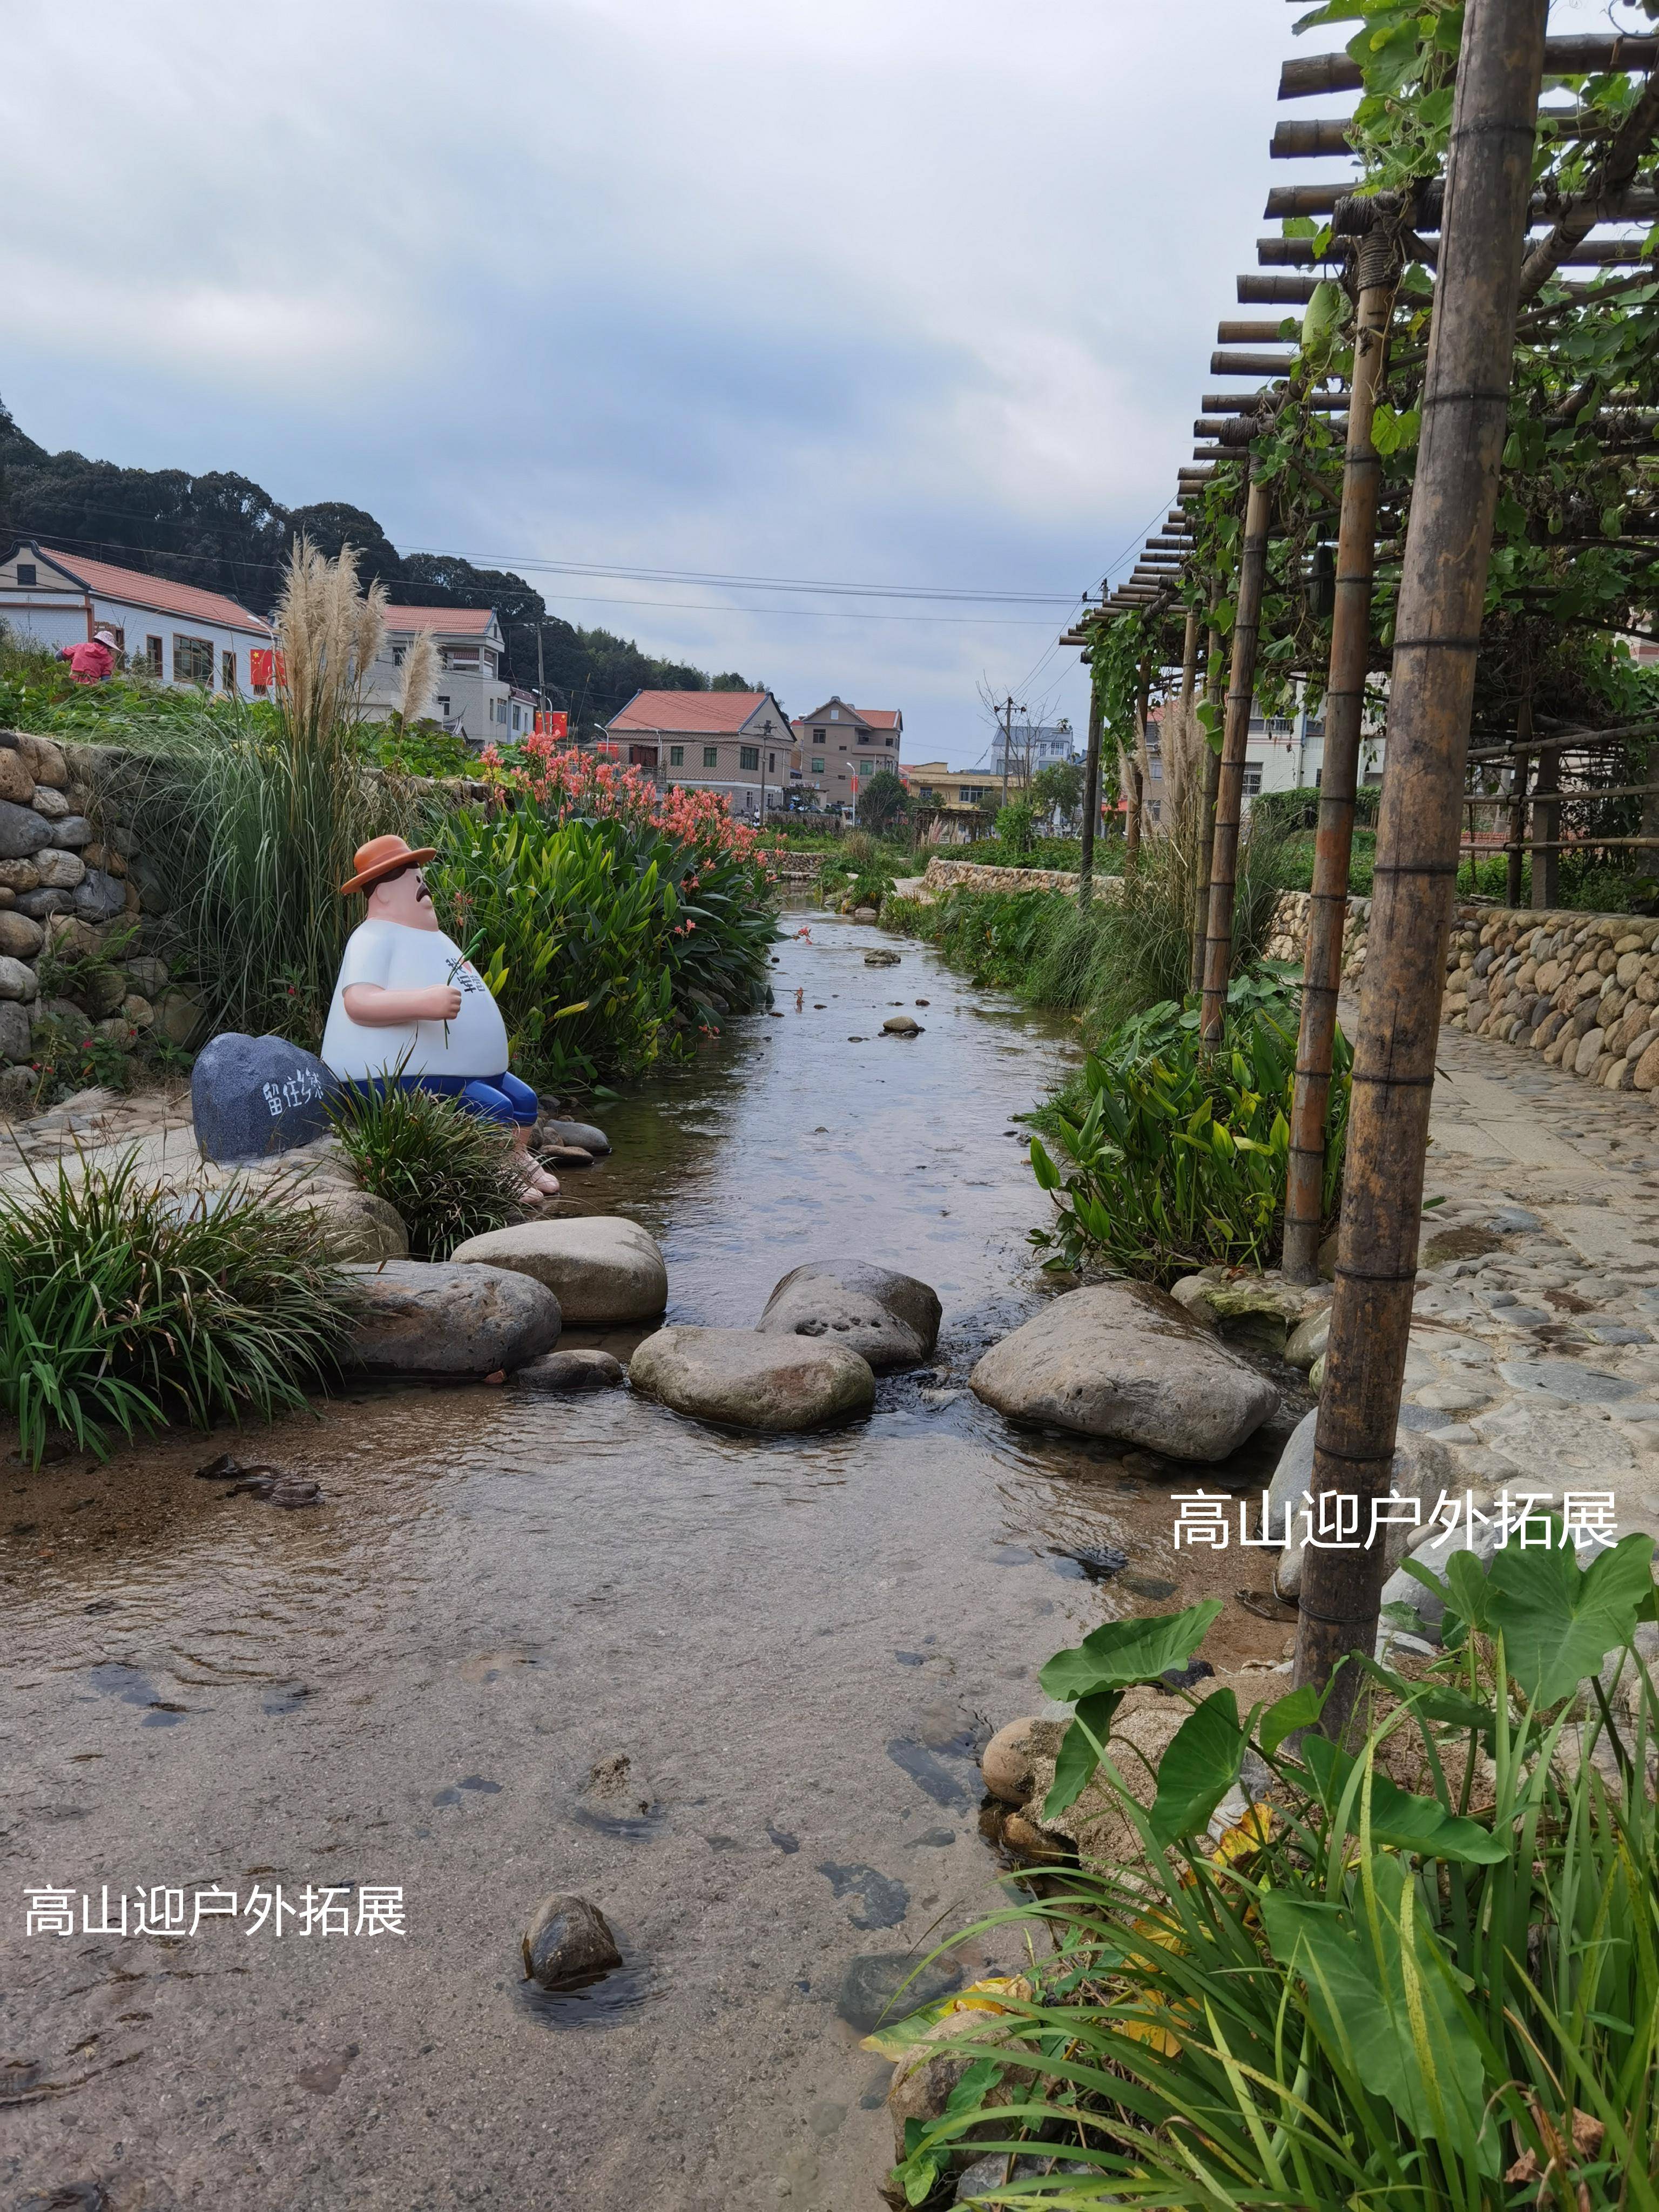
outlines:
[[[53,1433],[108,1458],[166,1422],[294,1411],[349,1329],[323,1225],[250,1188],[168,1190],[126,1152],[0,1192],[0,1407],[35,1467]]]

